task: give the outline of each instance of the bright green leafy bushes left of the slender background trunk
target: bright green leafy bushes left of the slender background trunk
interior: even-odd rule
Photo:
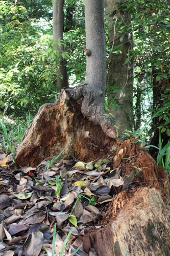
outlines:
[[[1,111],[36,113],[42,103],[53,102],[57,94],[54,80],[59,53],[53,48],[52,29],[44,20],[38,23],[29,18],[19,3],[1,1],[0,9]]]

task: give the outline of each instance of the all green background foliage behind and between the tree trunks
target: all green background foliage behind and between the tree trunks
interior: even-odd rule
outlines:
[[[52,1],[0,1],[2,113],[5,111],[8,114],[22,116],[29,112],[35,114],[41,104],[56,100],[60,56],[53,48],[52,6]],[[123,40],[125,32],[133,32],[134,47],[129,52],[126,62],[134,59],[134,130],[139,129],[150,119],[153,122],[146,126],[144,137],[149,140],[158,127],[163,139],[166,136],[168,140],[169,4],[162,0],[127,0],[118,6],[120,13],[122,10],[129,13],[131,25],[124,25],[124,16],[120,15],[116,20],[115,29],[116,33],[122,35],[120,41]],[[77,86],[85,76],[83,1],[65,0],[64,14],[66,53],[63,55],[67,58],[69,84]],[[117,47],[110,48],[108,45],[108,56],[111,51],[121,54]],[[107,101],[106,97],[106,106]],[[116,102],[114,106],[117,107]],[[155,113],[157,115],[153,117]]]

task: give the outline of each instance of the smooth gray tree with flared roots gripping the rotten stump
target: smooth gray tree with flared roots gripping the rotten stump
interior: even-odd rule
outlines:
[[[82,114],[94,124],[101,125],[104,133],[115,138],[116,133],[104,112],[106,89],[106,46],[104,28],[104,0],[85,0],[86,23],[86,78],[76,90],[66,93],[81,98]]]

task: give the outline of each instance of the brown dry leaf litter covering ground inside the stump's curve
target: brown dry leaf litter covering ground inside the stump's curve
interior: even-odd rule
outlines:
[[[102,225],[107,204],[134,177],[125,177],[124,185],[118,170],[113,175],[111,158],[60,158],[48,168],[43,161],[21,169],[10,168],[7,160],[3,155],[0,165],[0,256],[61,255],[66,239],[62,255],[88,255],[79,235]]]

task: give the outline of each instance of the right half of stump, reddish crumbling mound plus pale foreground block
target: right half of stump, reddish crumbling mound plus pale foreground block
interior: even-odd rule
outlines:
[[[135,170],[133,183],[113,199],[102,227],[87,230],[85,251],[98,256],[167,256],[170,251],[169,179],[155,160],[139,149],[134,139],[124,141],[113,157],[113,168],[126,177]]]

